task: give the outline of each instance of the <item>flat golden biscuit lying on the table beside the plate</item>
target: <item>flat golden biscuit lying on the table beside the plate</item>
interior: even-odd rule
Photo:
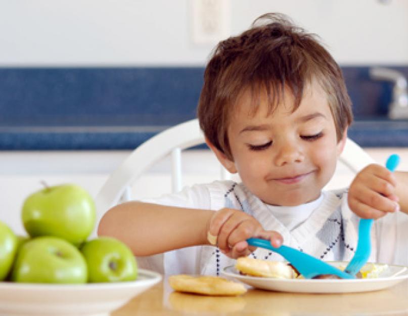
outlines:
[[[175,291],[195,294],[240,295],[247,291],[242,283],[214,276],[176,275],[168,282]]]

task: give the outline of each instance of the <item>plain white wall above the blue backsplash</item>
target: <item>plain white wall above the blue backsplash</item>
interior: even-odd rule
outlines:
[[[193,42],[193,1],[0,0],[0,66],[204,65],[215,42]],[[278,11],[339,63],[408,63],[406,0],[227,1],[232,34]]]

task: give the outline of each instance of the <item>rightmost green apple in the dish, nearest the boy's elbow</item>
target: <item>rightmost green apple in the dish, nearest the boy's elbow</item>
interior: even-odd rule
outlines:
[[[133,281],[138,277],[133,253],[115,238],[99,237],[87,241],[81,252],[88,265],[88,282]]]

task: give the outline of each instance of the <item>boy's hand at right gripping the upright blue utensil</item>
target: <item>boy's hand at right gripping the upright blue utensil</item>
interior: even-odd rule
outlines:
[[[380,218],[399,210],[394,174],[379,164],[357,173],[348,191],[348,205],[361,218]]]

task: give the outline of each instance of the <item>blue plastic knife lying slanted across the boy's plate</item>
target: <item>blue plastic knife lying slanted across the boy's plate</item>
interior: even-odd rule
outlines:
[[[354,279],[354,276],[343,272],[329,263],[326,263],[318,258],[312,257],[307,253],[301,252],[288,246],[280,246],[276,248],[270,244],[268,240],[249,238],[248,245],[261,247],[279,253],[288,260],[298,272],[306,279],[312,279],[319,275],[336,275],[342,279]]]

